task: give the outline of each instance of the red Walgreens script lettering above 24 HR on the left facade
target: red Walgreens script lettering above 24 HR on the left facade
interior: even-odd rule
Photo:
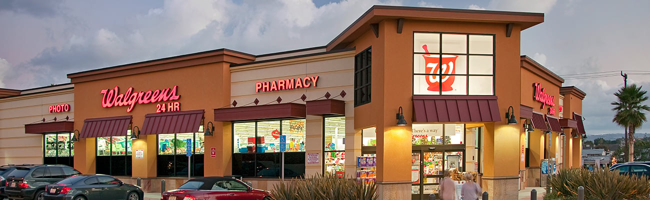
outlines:
[[[178,100],[181,95],[176,94],[178,86],[162,90],[148,90],[147,92],[134,92],[133,87],[129,87],[123,94],[120,94],[120,88],[115,86],[112,89],[103,89],[100,94],[101,106],[110,108],[113,106],[128,106],[126,112],[131,112],[136,104],[156,103],[162,101]]]

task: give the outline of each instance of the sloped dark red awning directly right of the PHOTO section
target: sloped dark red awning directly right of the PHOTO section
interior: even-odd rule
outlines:
[[[79,138],[126,136],[132,118],[132,116],[118,116],[86,119],[83,121],[83,128],[79,133]]]

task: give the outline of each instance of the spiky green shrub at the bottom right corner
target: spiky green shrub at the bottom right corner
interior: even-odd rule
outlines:
[[[544,199],[577,199],[578,186],[584,187],[584,199],[650,199],[650,182],[645,177],[611,171],[560,169],[548,182],[551,192],[547,192]]]

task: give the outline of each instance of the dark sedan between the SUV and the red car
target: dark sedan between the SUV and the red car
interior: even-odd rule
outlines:
[[[142,200],[140,186],[125,184],[109,175],[75,175],[45,187],[46,200]]]

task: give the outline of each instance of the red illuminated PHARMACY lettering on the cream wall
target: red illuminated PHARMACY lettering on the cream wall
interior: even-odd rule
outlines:
[[[278,90],[316,87],[317,81],[318,76],[296,79],[280,79],[278,81],[255,82],[255,92],[271,92]]]

